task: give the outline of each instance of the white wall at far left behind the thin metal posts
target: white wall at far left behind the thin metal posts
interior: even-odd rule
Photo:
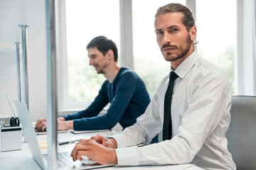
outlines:
[[[0,0],[0,23],[0,115],[11,115],[6,94],[11,99],[18,98],[14,42],[21,41],[21,28],[18,25],[29,25],[27,58],[29,111],[32,121],[36,121],[46,116],[47,111],[45,1]],[[22,50],[21,46],[20,50]]]

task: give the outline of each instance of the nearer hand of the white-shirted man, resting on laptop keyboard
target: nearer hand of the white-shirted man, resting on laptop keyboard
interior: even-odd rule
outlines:
[[[95,140],[82,140],[78,142],[70,154],[73,161],[79,159],[81,156],[86,156],[99,164],[117,164],[117,154],[112,148],[100,145]]]

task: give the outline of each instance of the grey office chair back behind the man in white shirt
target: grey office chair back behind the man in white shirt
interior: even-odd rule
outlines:
[[[228,150],[238,170],[256,169],[256,96],[232,96]]]

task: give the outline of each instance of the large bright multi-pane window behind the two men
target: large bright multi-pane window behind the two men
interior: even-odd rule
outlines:
[[[154,15],[159,6],[171,2],[186,5],[186,0],[126,0],[125,2],[127,4],[119,6],[119,0],[65,0],[67,48],[63,48],[62,51],[67,51],[63,70],[68,69],[64,71],[66,74],[63,74],[63,77],[66,78],[63,78],[63,84],[61,84],[63,97],[60,97],[60,100],[63,100],[63,103],[60,104],[62,106],[60,109],[88,106],[97,96],[103,81],[105,81],[102,74],[97,74],[95,69],[89,66],[85,49],[87,43],[98,35],[105,35],[112,39],[117,44],[119,52],[122,50],[132,53],[130,48],[132,46],[133,56],[130,54],[127,57],[119,56],[119,61],[122,59],[134,60],[129,63],[130,65],[123,64],[121,66],[134,68],[134,71],[144,80],[151,96],[156,92],[161,80],[169,74],[170,63],[164,60],[156,42]],[[189,2],[193,10],[196,7],[196,26],[198,28],[196,49],[201,57],[220,67],[227,74],[234,94],[237,1],[206,2],[196,0],[196,4],[193,4],[195,1]],[[124,23],[121,23],[122,26],[132,25],[132,33],[121,36],[122,40],[120,39],[119,14],[124,14],[125,11],[122,10],[119,13],[121,6],[132,8],[132,14],[126,13],[122,18]],[[146,8],[143,8],[144,6]],[[63,28],[60,27],[61,29]],[[132,42],[132,45],[127,45],[124,38],[128,42]],[[125,48],[123,46],[120,49],[120,42],[127,47],[126,50],[123,49]]]

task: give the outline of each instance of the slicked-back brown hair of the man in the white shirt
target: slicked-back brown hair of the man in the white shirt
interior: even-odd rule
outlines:
[[[181,20],[183,25],[186,26],[186,30],[189,31],[193,26],[195,26],[193,13],[191,13],[188,7],[183,6],[181,4],[171,3],[165,6],[161,6],[160,8],[157,9],[155,18],[161,14],[178,13],[178,12],[183,14]]]

